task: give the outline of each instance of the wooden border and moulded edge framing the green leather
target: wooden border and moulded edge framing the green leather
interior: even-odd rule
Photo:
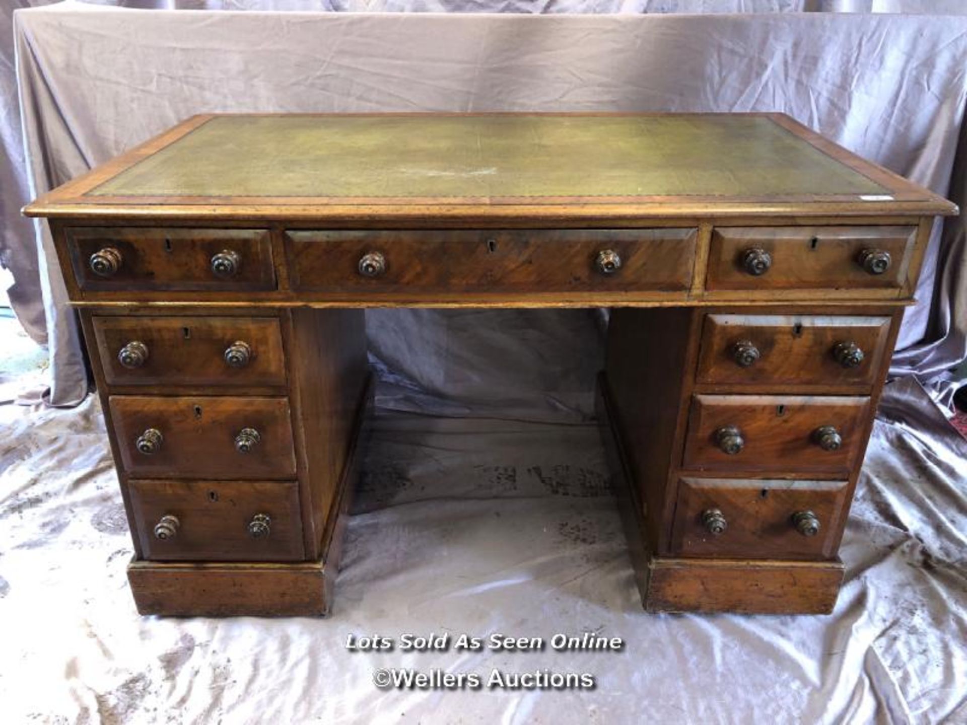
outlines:
[[[105,196],[88,192],[219,117],[420,117],[420,116],[747,116],[765,117],[792,132],[823,154],[890,191],[890,199],[861,199],[855,194],[801,196],[642,196],[516,198],[366,198],[351,203],[320,202],[315,197]],[[437,222],[546,219],[555,222],[598,222],[649,218],[729,217],[869,217],[953,216],[948,199],[915,185],[882,166],[862,159],[782,113],[238,113],[199,114],[149,139],[113,160],[49,191],[23,208],[27,217],[177,220],[318,220],[406,222],[434,217]]]

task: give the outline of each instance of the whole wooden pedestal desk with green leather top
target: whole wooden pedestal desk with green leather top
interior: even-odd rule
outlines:
[[[956,207],[779,114],[209,115],[25,213],[79,310],[140,612],[327,612],[363,308],[602,306],[645,608],[820,613]]]

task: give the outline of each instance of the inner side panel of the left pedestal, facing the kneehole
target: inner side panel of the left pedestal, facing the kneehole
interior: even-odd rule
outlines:
[[[343,476],[369,374],[362,310],[293,309],[287,313],[290,400],[303,480],[308,557],[324,551],[338,514]]]

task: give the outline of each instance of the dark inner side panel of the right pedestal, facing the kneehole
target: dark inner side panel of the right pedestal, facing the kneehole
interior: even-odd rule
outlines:
[[[653,551],[666,545],[669,528],[669,473],[681,455],[683,395],[695,347],[692,320],[689,309],[615,309],[608,324],[607,390]]]

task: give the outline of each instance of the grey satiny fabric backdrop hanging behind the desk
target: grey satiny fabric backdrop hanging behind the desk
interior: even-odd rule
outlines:
[[[161,5],[251,8],[265,0]],[[15,48],[33,192],[192,113],[242,110],[780,110],[934,190],[950,183],[967,20],[880,13],[967,12],[958,2],[270,0],[269,7],[555,14],[180,14],[77,3],[20,14]],[[815,10],[864,14],[787,12]],[[659,14],[557,14],[579,11]],[[773,13],[660,14],[671,11]],[[5,91],[9,98],[9,79]],[[35,242],[15,214],[30,194],[9,109],[0,184],[11,190],[0,253],[15,272],[18,315],[32,334],[47,335],[49,400],[71,405],[87,386],[76,327],[43,225]],[[956,263],[963,229],[952,221],[942,242],[937,230],[896,374],[934,382],[967,353],[967,279]]]

